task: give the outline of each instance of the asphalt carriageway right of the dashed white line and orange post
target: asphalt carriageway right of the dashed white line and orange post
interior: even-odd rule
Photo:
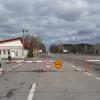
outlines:
[[[99,61],[91,61],[89,63],[89,72],[100,77],[100,56],[93,55],[75,55],[75,54],[51,54],[51,57],[62,59],[66,62],[70,62],[70,64],[74,64],[75,66],[81,67],[84,70],[86,65],[86,60],[99,60]]]

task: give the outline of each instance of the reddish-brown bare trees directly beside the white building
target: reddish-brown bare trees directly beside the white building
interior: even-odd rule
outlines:
[[[35,53],[44,53],[45,45],[42,42],[40,37],[31,36],[31,35],[25,35],[24,37],[21,37],[21,41],[24,45],[24,49],[28,50],[27,57],[34,57]]]

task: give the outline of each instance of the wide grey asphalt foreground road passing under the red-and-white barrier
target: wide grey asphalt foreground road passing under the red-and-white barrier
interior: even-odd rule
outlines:
[[[30,60],[55,60],[41,56]],[[0,100],[100,100],[100,78],[63,60],[60,70],[45,63],[7,64],[0,77]]]

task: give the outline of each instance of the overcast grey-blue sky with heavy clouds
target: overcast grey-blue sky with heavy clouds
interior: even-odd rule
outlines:
[[[0,0],[0,39],[30,34],[55,41],[100,42],[100,0]]]

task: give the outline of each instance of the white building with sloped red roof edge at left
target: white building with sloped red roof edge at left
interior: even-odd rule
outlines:
[[[1,58],[24,58],[27,55],[21,38],[14,38],[0,41],[0,56]]]

